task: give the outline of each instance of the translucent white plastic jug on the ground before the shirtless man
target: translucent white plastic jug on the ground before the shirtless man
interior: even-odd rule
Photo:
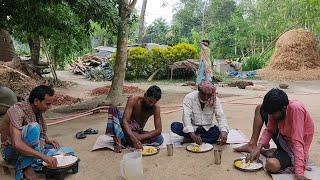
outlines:
[[[141,153],[131,152],[123,155],[120,162],[120,173],[126,180],[143,180]]]

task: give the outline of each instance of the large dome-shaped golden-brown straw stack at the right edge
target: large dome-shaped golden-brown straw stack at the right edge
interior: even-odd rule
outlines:
[[[320,79],[317,38],[305,29],[290,30],[280,36],[266,69],[259,74],[270,80]]]

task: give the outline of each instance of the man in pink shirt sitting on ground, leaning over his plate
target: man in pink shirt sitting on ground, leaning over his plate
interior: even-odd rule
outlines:
[[[293,166],[296,179],[306,179],[304,171],[314,134],[309,112],[301,102],[289,101],[287,94],[279,89],[272,89],[265,95],[262,108],[268,113],[269,122],[247,160],[259,158],[262,147],[268,149],[272,136],[278,133],[279,145],[274,157],[267,159],[267,171],[278,173]]]

